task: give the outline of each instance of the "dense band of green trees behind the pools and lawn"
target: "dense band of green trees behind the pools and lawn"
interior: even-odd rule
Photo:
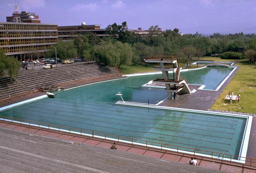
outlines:
[[[177,28],[159,32],[157,25],[150,26],[148,34],[138,34],[128,32],[127,28],[126,22],[121,25],[114,23],[106,28],[110,35],[108,37],[99,38],[96,34],[86,33],[78,35],[73,42],[60,40],[56,45],[57,56],[61,59],[78,56],[86,61],[95,60],[105,65],[120,67],[122,64],[142,63],[143,57],[149,55],[176,55],[178,61],[190,64],[205,55],[240,52],[242,54],[241,57],[239,54],[239,59],[247,58],[249,63],[255,63],[255,34],[214,33],[204,37],[196,32],[181,36]],[[47,52],[47,56],[54,57],[54,54],[54,50]]]

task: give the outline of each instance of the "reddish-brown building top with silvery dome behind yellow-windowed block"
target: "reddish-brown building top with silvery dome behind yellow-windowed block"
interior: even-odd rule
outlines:
[[[14,17],[20,17],[20,22],[23,23],[41,23],[41,20],[36,13],[26,13],[26,11],[21,11],[21,13],[12,13],[12,16],[6,16],[6,22],[13,22]]]

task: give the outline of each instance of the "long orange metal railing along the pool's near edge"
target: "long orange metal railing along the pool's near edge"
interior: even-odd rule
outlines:
[[[188,148],[188,147],[181,147],[181,146],[176,146],[176,145],[170,145],[170,144],[164,144],[164,143],[158,143],[158,142],[152,142],[152,141],[145,141],[145,140],[140,140],[140,139],[134,139],[134,138],[127,138],[127,137],[122,137],[122,136],[117,136],[117,135],[111,135],[111,134],[106,134],[106,133],[98,133],[94,131],[88,131],[88,130],[82,130],[82,129],[76,129],[76,128],[71,128],[71,127],[65,127],[65,126],[60,126],[60,125],[52,125],[48,123],[39,123],[36,121],[30,121],[30,120],[25,120],[25,119],[18,119],[18,118],[12,118],[12,117],[5,117],[5,116],[0,116],[0,119],[3,121],[7,122],[12,122],[12,123],[19,123],[19,124],[25,124],[29,126],[35,126],[35,127],[40,127],[40,128],[45,128],[45,129],[53,129],[57,131],[64,131],[68,133],[73,133],[73,134],[79,134],[83,136],[90,136],[92,138],[97,137],[97,138],[103,138],[103,139],[108,139],[108,140],[114,140],[117,142],[126,142],[130,143],[132,145],[143,145],[146,146],[146,148],[159,148],[161,150],[172,150],[175,153],[187,153],[189,155],[193,156],[200,156],[206,158],[211,158],[211,159],[222,159],[222,161],[230,162],[230,163],[236,163],[235,160],[240,160],[244,161],[245,163],[240,163],[245,166],[249,167],[255,167],[256,168],[256,159],[253,158],[248,158],[248,157],[241,157],[237,155],[230,155],[230,154],[225,154],[225,153],[220,153],[220,152],[213,152],[213,151],[207,151],[207,150],[201,150],[201,149],[196,149],[196,148]]]

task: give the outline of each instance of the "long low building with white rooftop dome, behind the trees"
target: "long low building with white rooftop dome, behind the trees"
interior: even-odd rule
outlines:
[[[58,26],[58,36],[63,40],[73,40],[78,34],[84,34],[86,32],[96,33],[98,37],[109,36],[106,29],[100,29],[102,25],[82,25],[75,26]]]

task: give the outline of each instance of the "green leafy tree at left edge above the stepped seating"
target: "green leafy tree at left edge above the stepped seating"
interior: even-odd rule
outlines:
[[[6,56],[4,50],[0,49],[0,77],[3,77],[6,71],[12,81],[13,76],[19,75],[20,67],[20,62],[14,56]]]

